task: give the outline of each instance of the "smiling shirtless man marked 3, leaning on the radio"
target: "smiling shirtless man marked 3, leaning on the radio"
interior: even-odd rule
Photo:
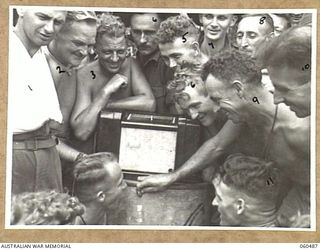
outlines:
[[[98,60],[78,71],[77,99],[71,115],[75,136],[86,140],[103,108],[155,111],[155,99],[137,62],[126,57],[125,26],[105,15],[97,30]]]

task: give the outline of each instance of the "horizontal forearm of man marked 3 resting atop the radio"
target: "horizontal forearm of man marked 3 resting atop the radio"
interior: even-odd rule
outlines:
[[[155,100],[146,95],[131,96],[117,101],[110,101],[107,104],[112,109],[129,109],[139,111],[151,111],[156,109]]]

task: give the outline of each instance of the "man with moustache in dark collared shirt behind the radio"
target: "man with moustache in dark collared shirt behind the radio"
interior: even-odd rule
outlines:
[[[158,48],[156,33],[160,22],[161,18],[156,13],[134,14],[131,17],[131,34],[138,47],[137,59],[156,98],[156,112],[170,113],[175,111],[170,107],[166,86],[173,78],[173,71],[161,58]]]

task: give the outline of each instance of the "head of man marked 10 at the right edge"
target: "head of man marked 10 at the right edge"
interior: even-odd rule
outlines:
[[[285,103],[298,117],[310,115],[311,27],[288,29],[258,51],[275,87],[274,103]]]

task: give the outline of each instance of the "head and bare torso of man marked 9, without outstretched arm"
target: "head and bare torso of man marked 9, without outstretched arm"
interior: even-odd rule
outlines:
[[[259,75],[261,79],[253,59],[236,51],[219,54],[204,67],[205,84],[216,103],[215,111],[221,109],[234,123],[246,122],[251,131],[259,133],[265,142],[261,157],[276,162],[293,184],[294,190],[284,202],[287,213],[308,214],[309,118],[297,118],[287,106],[274,105],[273,95],[262,87]]]

